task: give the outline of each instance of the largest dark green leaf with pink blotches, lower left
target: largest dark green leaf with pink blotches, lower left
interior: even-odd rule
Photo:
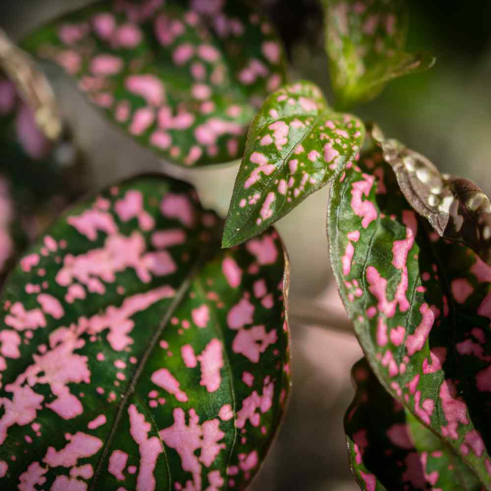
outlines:
[[[244,489],[289,393],[288,265],[160,176],[73,207],[1,301],[0,485]],[[37,489],[37,488],[36,488]]]

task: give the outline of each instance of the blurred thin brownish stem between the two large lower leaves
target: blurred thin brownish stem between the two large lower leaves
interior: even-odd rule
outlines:
[[[291,301],[289,318],[300,324],[311,324],[344,334],[354,334],[353,325],[348,317],[316,307],[309,300]]]

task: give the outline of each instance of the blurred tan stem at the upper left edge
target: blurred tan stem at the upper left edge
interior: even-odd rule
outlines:
[[[40,130],[56,140],[62,130],[60,111],[50,82],[33,58],[16,46],[0,29],[0,71],[15,84],[22,100],[34,113]]]

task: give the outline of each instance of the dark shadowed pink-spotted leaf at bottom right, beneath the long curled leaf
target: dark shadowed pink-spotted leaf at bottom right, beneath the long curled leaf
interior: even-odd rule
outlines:
[[[355,364],[352,376],[356,395],[344,426],[351,469],[362,490],[482,489],[455,452],[387,393],[365,359]]]

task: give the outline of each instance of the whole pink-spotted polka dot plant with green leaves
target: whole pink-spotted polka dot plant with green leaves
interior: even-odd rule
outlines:
[[[331,183],[329,257],[365,356],[345,416],[356,482],[491,490],[490,199],[343,112],[433,65],[404,51],[404,2],[323,3],[334,103],[286,82],[272,24],[242,1],[98,2],[22,42],[161,157],[242,163],[225,222],[189,184],[140,175],[23,254],[1,298],[4,487],[246,489],[290,390],[289,263],[271,225]],[[2,40],[0,145],[23,190],[54,160],[57,111]]]

